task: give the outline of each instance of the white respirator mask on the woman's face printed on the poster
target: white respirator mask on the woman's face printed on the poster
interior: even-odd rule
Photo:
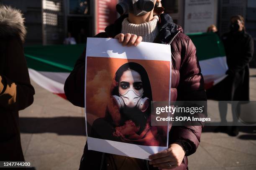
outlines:
[[[149,106],[148,97],[142,98],[143,92],[141,93],[141,95],[139,95],[134,90],[128,90],[124,94],[120,94],[119,92],[119,95],[120,97],[117,95],[113,95],[119,109],[122,109],[126,105],[130,108],[136,107],[142,112],[145,112]]]

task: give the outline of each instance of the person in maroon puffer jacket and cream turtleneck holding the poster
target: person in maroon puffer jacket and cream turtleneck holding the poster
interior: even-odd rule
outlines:
[[[154,5],[159,0],[154,0]],[[156,6],[155,6],[156,7]],[[134,9],[133,9],[134,10]],[[156,11],[155,11],[156,12]],[[182,28],[173,23],[168,14],[153,15],[154,10],[137,16],[131,12],[121,15],[105,32],[95,37],[112,37],[123,46],[138,46],[141,41],[168,44],[172,49],[172,101],[205,101],[204,80],[192,40]],[[161,19],[161,23],[159,20]],[[171,41],[173,39],[173,41]],[[67,78],[64,91],[74,105],[84,107],[85,54],[77,60]],[[169,149],[151,155],[147,160],[96,152],[84,147],[80,170],[154,170],[188,169],[187,156],[195,153],[200,143],[203,125],[172,126],[169,131]],[[105,146],[102,146],[105,147]]]

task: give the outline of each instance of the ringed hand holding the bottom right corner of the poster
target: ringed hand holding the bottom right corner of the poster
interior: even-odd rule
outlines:
[[[169,170],[181,165],[184,156],[185,151],[182,145],[174,143],[170,145],[169,149],[150,155],[149,159],[151,159],[151,161],[149,164],[159,169]]]

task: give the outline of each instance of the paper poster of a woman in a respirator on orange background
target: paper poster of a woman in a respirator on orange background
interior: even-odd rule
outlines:
[[[148,159],[168,147],[167,126],[151,126],[151,102],[169,101],[169,45],[88,38],[85,119],[89,150]]]

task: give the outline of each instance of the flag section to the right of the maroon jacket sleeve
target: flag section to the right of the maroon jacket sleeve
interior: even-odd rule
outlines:
[[[215,33],[188,34],[197,48],[197,58],[205,80],[205,89],[222,81],[228,70],[225,49]]]

